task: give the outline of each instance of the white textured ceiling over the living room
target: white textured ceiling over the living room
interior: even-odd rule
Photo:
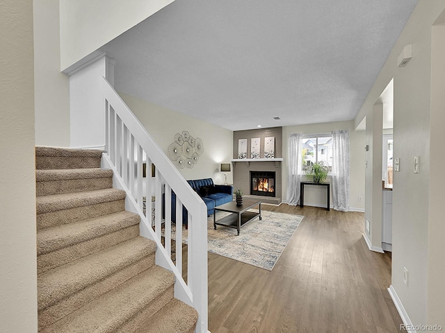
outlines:
[[[118,91],[229,130],[344,121],[416,3],[177,0],[102,50]]]

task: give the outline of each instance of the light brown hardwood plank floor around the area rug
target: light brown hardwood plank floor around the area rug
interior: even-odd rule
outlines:
[[[305,219],[273,271],[209,253],[212,333],[400,331],[391,259],[367,248],[363,213],[261,208]]]

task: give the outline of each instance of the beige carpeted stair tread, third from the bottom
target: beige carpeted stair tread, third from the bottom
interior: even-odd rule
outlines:
[[[136,237],[38,275],[38,308],[72,295],[88,285],[156,251],[154,241]]]

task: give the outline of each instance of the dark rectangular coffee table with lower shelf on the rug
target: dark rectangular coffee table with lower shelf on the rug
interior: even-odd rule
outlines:
[[[250,208],[258,205],[259,212],[248,212]],[[223,219],[219,219],[216,221],[216,211],[219,210],[220,212],[229,212],[232,213],[230,215],[227,215],[223,217]],[[218,207],[215,207],[215,210],[213,212],[213,228],[216,230],[216,225],[224,225],[225,227],[229,228],[235,228],[238,230],[238,236],[239,236],[239,230],[245,223],[248,223],[255,219],[257,216],[259,216],[259,219],[261,220],[261,201],[258,200],[251,200],[251,199],[244,199],[243,205],[237,206],[236,201],[231,201],[230,203],[225,203],[224,205],[220,205]]]

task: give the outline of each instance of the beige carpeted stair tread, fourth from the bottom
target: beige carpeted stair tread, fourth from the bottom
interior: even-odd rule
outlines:
[[[138,214],[124,211],[40,230],[37,233],[37,255],[79,244],[139,222]]]

